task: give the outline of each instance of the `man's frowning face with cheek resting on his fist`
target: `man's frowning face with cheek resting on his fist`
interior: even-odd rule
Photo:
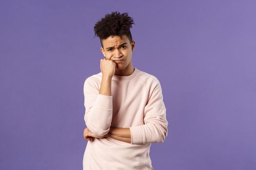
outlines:
[[[132,61],[132,51],[135,47],[135,41],[130,43],[126,35],[122,35],[122,39],[118,35],[109,36],[102,40],[103,48],[100,50],[103,55],[110,60],[113,60],[117,65],[117,69],[126,68]],[[121,60],[120,62],[115,60]]]

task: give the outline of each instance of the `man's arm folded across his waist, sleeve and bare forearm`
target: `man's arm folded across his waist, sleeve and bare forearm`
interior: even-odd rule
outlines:
[[[144,109],[146,124],[130,128],[110,127],[108,137],[131,144],[164,141],[167,136],[168,121],[166,120],[166,108],[158,80],[155,80],[153,87],[151,88],[151,97]]]

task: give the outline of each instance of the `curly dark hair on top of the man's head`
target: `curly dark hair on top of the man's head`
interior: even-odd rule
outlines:
[[[132,17],[128,16],[128,13],[120,14],[118,11],[112,12],[111,14],[106,14],[105,17],[101,18],[94,26],[94,37],[97,35],[100,39],[101,47],[102,39],[106,39],[111,35],[126,35],[130,42],[133,41],[130,28],[132,28],[134,20]]]

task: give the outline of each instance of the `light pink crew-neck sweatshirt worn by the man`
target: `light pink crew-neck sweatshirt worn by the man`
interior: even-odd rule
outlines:
[[[112,127],[130,128],[131,143],[111,137],[88,141],[83,170],[153,170],[151,143],[167,136],[166,108],[158,79],[135,68],[129,76],[114,75],[112,96],[99,93],[102,73],[84,82],[84,120],[95,135]]]

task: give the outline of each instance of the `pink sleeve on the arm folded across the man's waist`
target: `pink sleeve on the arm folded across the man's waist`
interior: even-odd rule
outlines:
[[[154,77],[150,84],[149,100],[144,107],[144,124],[130,127],[131,144],[163,142],[168,134],[168,121],[160,82]]]

